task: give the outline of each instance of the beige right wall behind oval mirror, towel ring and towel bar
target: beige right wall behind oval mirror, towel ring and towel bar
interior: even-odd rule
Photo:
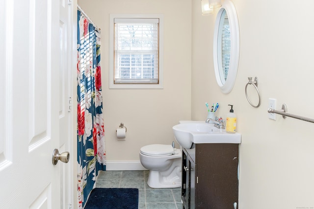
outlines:
[[[268,98],[277,109],[314,118],[314,1],[233,0],[240,27],[235,88],[218,89],[212,39],[215,16],[201,16],[192,0],[192,119],[206,116],[204,103],[219,102],[226,117],[234,104],[240,145],[240,209],[314,207],[314,124],[294,118],[268,119]],[[247,77],[258,76],[262,104],[245,97]],[[254,88],[250,95],[256,96]]]

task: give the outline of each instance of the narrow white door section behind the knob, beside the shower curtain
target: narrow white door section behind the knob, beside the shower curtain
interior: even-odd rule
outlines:
[[[59,0],[59,152],[72,150],[70,139],[73,121],[73,95],[71,82],[71,59],[72,59],[72,4],[69,0]],[[72,154],[72,153],[71,153]],[[60,163],[60,209],[69,209],[73,203],[73,181],[71,168],[73,168],[74,156],[71,155],[69,163]]]

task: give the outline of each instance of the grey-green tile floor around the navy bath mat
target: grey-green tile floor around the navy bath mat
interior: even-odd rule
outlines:
[[[139,209],[182,209],[181,188],[151,188],[148,171],[100,171],[96,187],[138,188]]]

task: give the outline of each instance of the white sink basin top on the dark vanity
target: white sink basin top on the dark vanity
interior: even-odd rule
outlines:
[[[205,121],[180,121],[172,127],[178,143],[190,149],[193,143],[241,143],[241,134],[229,134]]]

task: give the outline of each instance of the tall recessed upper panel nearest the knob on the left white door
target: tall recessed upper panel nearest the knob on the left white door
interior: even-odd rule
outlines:
[[[29,4],[28,149],[32,151],[40,149],[40,144],[51,139],[48,113],[51,112],[52,107],[48,106],[51,97],[48,74],[51,70],[49,64],[52,61],[51,57],[48,57],[51,45],[47,44],[48,31],[51,27],[47,15],[48,1],[30,0]]]

